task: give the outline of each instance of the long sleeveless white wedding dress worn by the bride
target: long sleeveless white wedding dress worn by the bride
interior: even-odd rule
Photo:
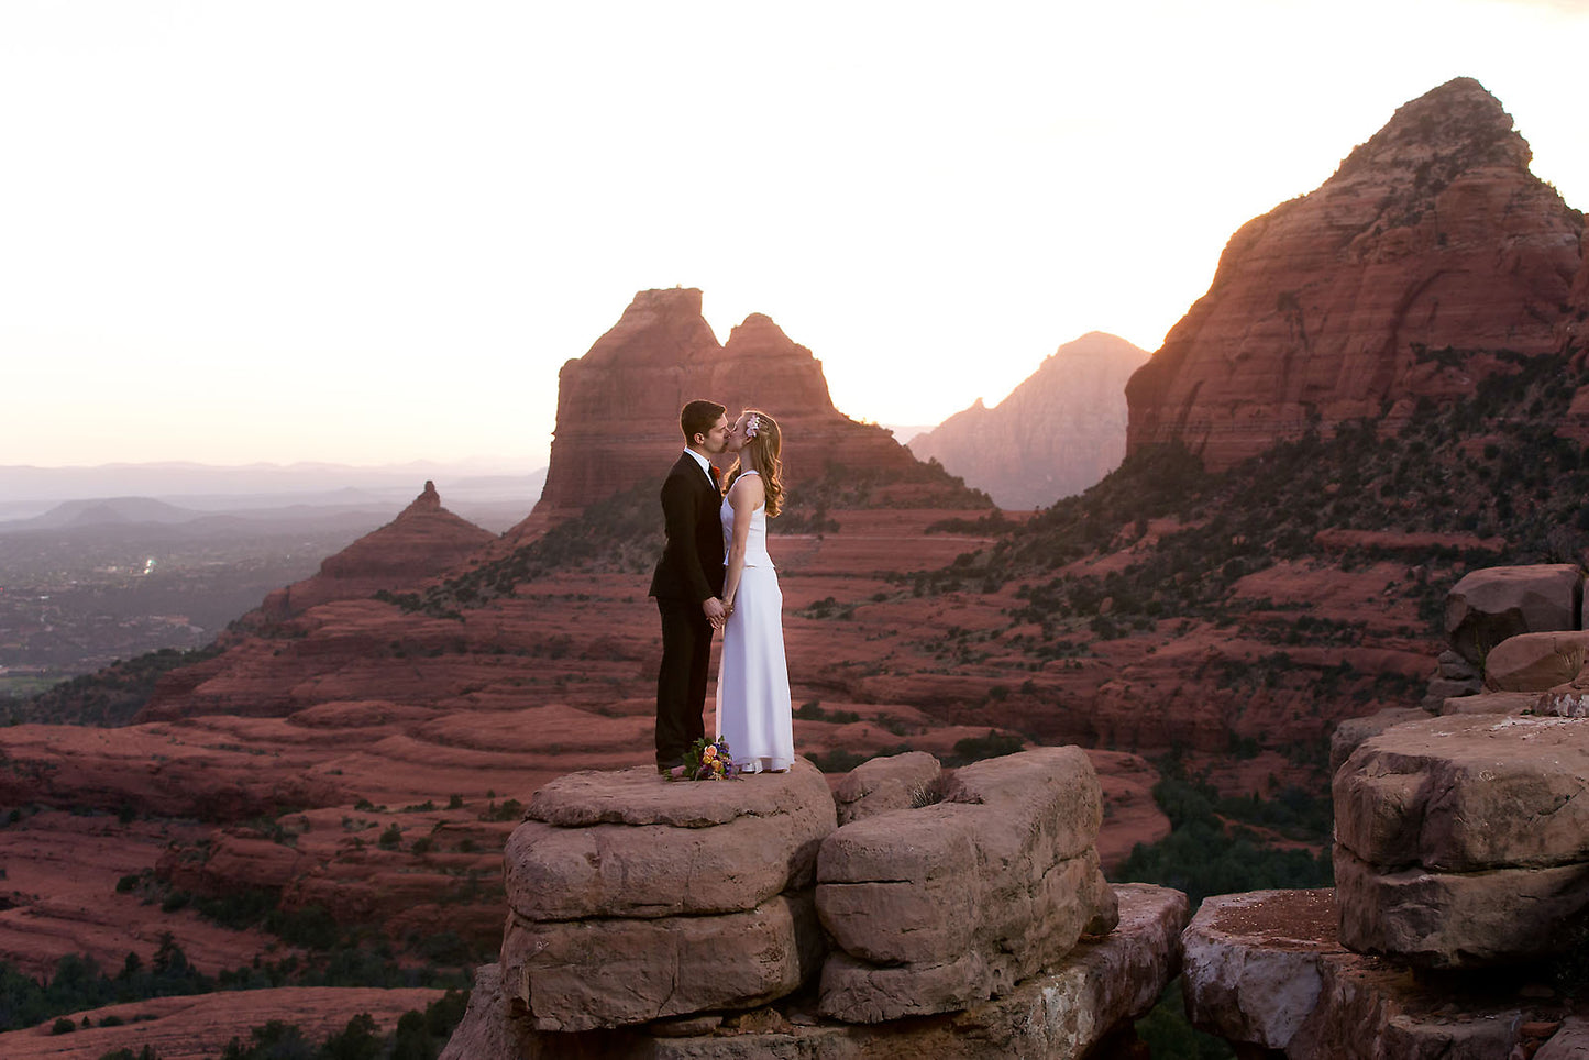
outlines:
[[[728,551],[734,544],[734,507],[728,497],[723,497],[718,518],[723,521],[723,551]],[[734,594],[734,613],[723,628],[723,655],[717,669],[717,734],[728,741],[734,766],[745,772],[794,764],[790,674],[783,658],[783,591],[767,555],[766,505],[750,516],[745,572]]]

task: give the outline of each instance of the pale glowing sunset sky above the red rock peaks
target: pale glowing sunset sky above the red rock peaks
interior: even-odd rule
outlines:
[[[1589,207],[1589,2],[0,5],[0,464],[545,459],[636,291],[938,423],[1154,350],[1475,76]]]

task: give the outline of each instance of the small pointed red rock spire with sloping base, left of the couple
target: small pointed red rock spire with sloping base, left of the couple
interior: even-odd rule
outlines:
[[[315,577],[270,593],[259,613],[280,621],[329,601],[412,590],[494,540],[491,531],[443,509],[435,483],[426,482],[397,518],[324,559]]]

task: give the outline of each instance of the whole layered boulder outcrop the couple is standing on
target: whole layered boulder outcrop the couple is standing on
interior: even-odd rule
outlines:
[[[1152,1008],[1185,898],[1104,884],[1085,753],[976,763],[918,807],[923,766],[863,777],[909,804],[842,828],[806,761],[543,787],[504,852],[501,965],[448,1055],[1081,1057]]]

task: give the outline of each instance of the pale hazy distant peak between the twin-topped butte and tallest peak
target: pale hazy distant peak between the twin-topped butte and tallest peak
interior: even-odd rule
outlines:
[[[993,496],[999,507],[1047,507],[1081,493],[1125,456],[1125,381],[1147,351],[1088,332],[1052,353],[993,408],[979,397],[910,439],[918,459]]]

